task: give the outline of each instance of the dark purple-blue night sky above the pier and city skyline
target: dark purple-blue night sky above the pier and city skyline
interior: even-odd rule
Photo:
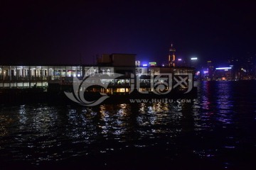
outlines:
[[[226,62],[256,52],[252,1],[0,2],[0,64],[93,64],[132,53],[142,62],[177,57]]]

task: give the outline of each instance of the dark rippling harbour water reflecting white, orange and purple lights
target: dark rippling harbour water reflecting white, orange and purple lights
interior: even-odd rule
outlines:
[[[198,98],[191,103],[2,106],[1,162],[41,165],[80,157],[95,157],[96,162],[97,157],[118,159],[132,150],[143,157],[151,155],[153,162],[175,164],[183,159],[196,166],[206,161],[220,168],[251,163],[247,157],[238,164],[240,154],[255,151],[256,102],[245,95],[255,95],[255,82],[242,93],[240,82],[196,86]],[[99,164],[113,162],[105,158]]]

